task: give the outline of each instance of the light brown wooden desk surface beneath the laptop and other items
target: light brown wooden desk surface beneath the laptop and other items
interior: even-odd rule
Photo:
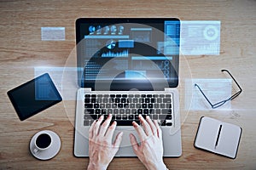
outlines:
[[[62,103],[20,122],[7,91],[34,77],[34,67],[65,66],[75,45],[74,22],[79,17],[178,17],[181,20],[220,20],[218,56],[186,56],[193,78],[218,77],[229,69],[242,94],[232,111],[181,112],[183,156],[166,158],[170,169],[253,169],[256,167],[255,1],[3,1],[0,2],[0,169],[84,169],[89,159],[73,156],[74,104]],[[66,28],[66,40],[41,41],[41,27]],[[181,72],[182,75],[182,72]],[[183,87],[183,83],[180,84]],[[183,105],[181,99],[181,105]],[[73,105],[73,106],[72,106]],[[235,160],[193,146],[201,116],[212,116],[243,128]],[[61,151],[52,160],[38,161],[28,150],[32,135],[49,129],[61,137]],[[137,158],[115,158],[109,169],[143,169]]]

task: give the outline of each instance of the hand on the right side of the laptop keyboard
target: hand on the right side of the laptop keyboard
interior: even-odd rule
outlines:
[[[162,131],[157,121],[154,122],[149,116],[146,120],[143,116],[139,116],[140,122],[143,127],[140,127],[137,122],[132,122],[133,127],[136,129],[141,144],[137,143],[137,139],[133,134],[130,134],[130,140],[134,153],[140,161],[143,162],[147,169],[165,169],[166,165],[163,161],[163,141]],[[144,128],[144,129],[143,129]]]

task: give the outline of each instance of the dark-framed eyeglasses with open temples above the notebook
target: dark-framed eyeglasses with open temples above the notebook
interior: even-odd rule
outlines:
[[[230,71],[227,71],[227,70],[221,70],[221,71],[222,72],[226,71],[230,75],[230,77],[234,80],[234,82],[236,82],[236,79],[230,74]],[[197,87],[201,91],[201,94],[203,94],[205,99],[207,99],[207,102],[212,106],[212,109],[216,109],[219,106],[224,105],[227,101],[235,99],[239,94],[241,94],[242,89],[241,89],[240,85],[238,84],[238,82],[236,82],[236,85],[239,88],[239,91],[236,92],[236,94],[233,94],[229,99],[224,99],[224,100],[219,101],[218,103],[212,105],[212,102],[207,98],[206,94],[204,94],[203,91],[201,90],[201,88],[195,83],[195,87]]]

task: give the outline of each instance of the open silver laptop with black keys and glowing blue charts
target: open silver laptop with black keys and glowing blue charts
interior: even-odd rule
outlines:
[[[76,20],[78,84],[74,156],[89,156],[89,129],[113,115],[113,139],[122,131],[116,157],[136,156],[129,134],[138,115],[158,120],[165,157],[182,154],[178,66],[180,21],[176,18],[80,18]]]

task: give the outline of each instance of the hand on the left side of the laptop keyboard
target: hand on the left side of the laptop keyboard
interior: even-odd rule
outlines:
[[[101,116],[98,121],[91,124],[89,130],[90,162],[88,169],[107,169],[113,156],[115,156],[116,152],[119,150],[123,133],[118,133],[112,144],[116,122],[113,122],[112,125],[108,127],[111,119],[112,115],[109,115],[107,120],[102,123],[103,116]]]

